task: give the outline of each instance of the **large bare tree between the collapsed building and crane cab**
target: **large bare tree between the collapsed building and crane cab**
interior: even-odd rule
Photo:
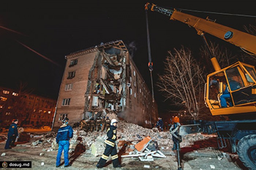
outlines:
[[[158,75],[157,86],[165,100],[170,99],[177,107],[185,107],[187,113],[197,119],[205,82],[203,70],[189,49],[182,46],[180,50],[174,51],[168,51],[169,56],[164,62],[165,72]]]

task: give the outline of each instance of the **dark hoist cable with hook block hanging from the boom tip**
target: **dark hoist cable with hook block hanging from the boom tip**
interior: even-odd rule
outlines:
[[[152,77],[152,71],[153,71],[153,62],[151,59],[151,51],[150,51],[150,39],[149,39],[149,31],[148,31],[148,18],[147,18],[147,10],[146,12],[146,24],[147,24],[147,48],[148,48],[148,69],[150,71],[150,78],[151,78],[151,89],[152,89],[152,101],[155,102],[154,98],[154,85],[153,85],[153,77]]]

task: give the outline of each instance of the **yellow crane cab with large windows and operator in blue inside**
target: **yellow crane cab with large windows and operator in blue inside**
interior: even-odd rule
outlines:
[[[242,62],[208,74],[204,101],[211,114],[256,113],[255,80],[254,66]]]

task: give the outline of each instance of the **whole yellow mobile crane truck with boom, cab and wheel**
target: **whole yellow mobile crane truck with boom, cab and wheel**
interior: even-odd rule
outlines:
[[[155,4],[145,4],[145,10],[157,11],[170,16],[170,20],[177,20],[188,24],[190,27],[195,28],[198,35],[202,36],[208,47],[215,70],[215,72],[207,76],[204,100],[212,115],[227,115],[230,120],[200,120],[200,130],[207,133],[217,133],[219,148],[226,147],[225,139],[228,139],[232,151],[238,153],[244,165],[249,169],[256,169],[255,67],[242,62],[236,62],[221,68],[217,59],[212,55],[204,34],[214,35],[240,47],[251,55],[256,54],[256,36],[223,26],[208,18],[202,19],[176,9],[159,7]],[[223,94],[227,91],[229,95],[224,98]],[[184,127],[184,129],[186,128]],[[185,130],[184,134],[190,133],[189,131]]]

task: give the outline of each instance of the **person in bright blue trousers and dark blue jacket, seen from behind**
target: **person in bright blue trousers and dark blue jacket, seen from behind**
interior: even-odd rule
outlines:
[[[56,167],[60,167],[60,158],[62,151],[64,150],[64,167],[69,167],[68,160],[68,149],[69,149],[69,139],[73,137],[73,129],[68,125],[68,118],[62,120],[62,125],[60,126],[57,136],[56,142],[59,144],[57,159],[56,159]]]

